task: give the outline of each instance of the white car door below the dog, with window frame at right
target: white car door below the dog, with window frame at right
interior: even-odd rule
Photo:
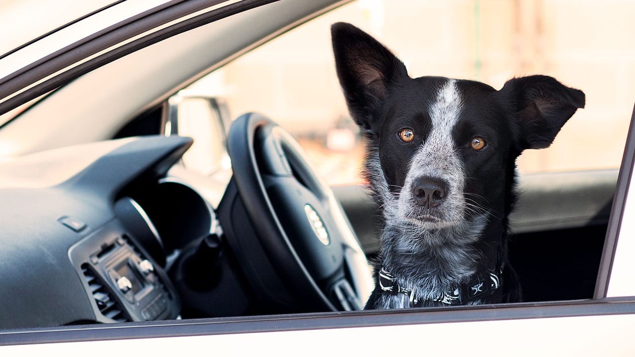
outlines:
[[[627,198],[634,142],[631,132],[617,178],[612,212],[606,222],[606,240],[601,241],[603,250],[595,273],[598,283],[594,285],[592,299],[3,330],[0,332],[0,352],[7,356],[24,353],[110,356],[121,351],[281,355],[448,351],[627,355],[632,353],[630,340],[635,325],[635,292],[628,279],[634,270],[629,261],[633,253],[629,246],[632,244],[629,222],[635,217],[631,217],[632,202]],[[610,175],[606,176],[603,185],[610,187]],[[368,212],[374,208],[356,190],[359,190],[357,185],[344,188],[340,198],[344,198],[349,212],[366,212],[359,214],[362,219],[358,224],[371,227]],[[599,191],[604,192],[603,189]],[[591,191],[583,190],[582,196],[585,196],[584,192]],[[350,201],[347,195],[352,196]],[[598,206],[606,206],[608,196],[606,192],[600,193]],[[540,199],[536,201],[541,202]],[[584,217],[581,220],[587,222]],[[600,222],[602,219],[599,217]],[[582,227],[586,229],[584,225]],[[368,234],[374,232],[369,231]],[[359,235],[363,237],[363,231],[360,230]],[[369,252],[374,252],[370,243],[368,246]],[[545,281],[547,278],[545,276]]]

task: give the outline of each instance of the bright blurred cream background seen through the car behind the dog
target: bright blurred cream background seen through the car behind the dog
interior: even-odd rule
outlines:
[[[627,0],[358,0],[290,30],[190,85],[232,117],[258,111],[285,126],[330,184],[361,181],[363,143],[342,96],[330,25],[351,22],[403,60],[410,76],[507,79],[547,74],[583,90],[549,149],[521,172],[616,168],[635,100],[635,2]],[[212,49],[213,50],[213,49]]]

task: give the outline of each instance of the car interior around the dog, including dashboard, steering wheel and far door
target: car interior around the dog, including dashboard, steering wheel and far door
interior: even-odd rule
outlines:
[[[275,116],[187,90],[331,3],[168,37],[0,125],[0,329],[362,309],[378,253],[364,183],[330,187]],[[594,298],[617,177],[518,175],[525,302]]]

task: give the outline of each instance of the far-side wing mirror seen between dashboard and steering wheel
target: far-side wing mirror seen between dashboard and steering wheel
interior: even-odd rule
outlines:
[[[194,139],[194,144],[183,156],[185,167],[206,176],[231,168],[225,144],[231,115],[225,100],[179,91],[168,98],[165,105],[164,135]]]

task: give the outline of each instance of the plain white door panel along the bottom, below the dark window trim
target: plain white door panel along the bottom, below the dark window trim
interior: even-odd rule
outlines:
[[[601,304],[586,304],[592,309],[601,309]],[[18,355],[53,355],[53,356],[111,356],[116,351],[128,353],[144,353],[157,355],[177,355],[183,353],[200,354],[210,351],[213,354],[231,354],[232,356],[260,356],[264,351],[276,353],[276,356],[342,356],[345,354],[363,356],[387,356],[399,351],[400,354],[445,356],[448,352],[457,356],[498,355],[539,356],[627,356],[632,355],[632,331],[635,327],[635,314],[620,313],[615,304],[598,312],[598,315],[563,316],[552,318],[536,318],[549,315],[545,309],[539,307],[526,308],[526,313],[534,314],[533,318],[504,319],[507,310],[512,309],[472,309],[473,317],[480,316],[481,321],[438,322],[439,315],[453,316],[456,314],[470,314],[469,311],[458,311],[448,314],[441,311],[428,313],[421,310],[412,313],[392,311],[382,316],[392,316],[391,325],[382,325],[382,316],[377,314],[344,314],[344,316],[312,316],[295,320],[302,320],[302,328],[293,328],[293,319],[275,319],[260,321],[234,321],[232,324],[251,325],[255,329],[262,328],[262,332],[232,332],[224,330],[222,321],[197,321],[185,323],[158,325],[150,327],[108,328],[96,327],[92,340],[83,342],[73,339],[73,331],[67,329],[64,343],[53,344],[24,344],[16,346],[0,346],[3,356]],[[627,309],[632,309],[631,303],[618,303]],[[590,313],[584,305],[581,311]],[[563,312],[570,306],[563,306]],[[557,307],[556,307],[557,309]],[[439,309],[436,309],[439,310]],[[518,309],[517,309],[518,310]],[[548,309],[554,310],[554,308]],[[480,311],[480,313],[479,313]],[[483,320],[499,315],[500,320]],[[414,316],[414,319],[410,319]],[[425,318],[422,322],[417,316]],[[306,316],[305,316],[306,317]],[[436,317],[436,318],[435,318]],[[324,328],[331,320],[351,320],[355,325],[364,327]],[[311,320],[311,321],[308,321]],[[368,322],[377,325],[368,325]],[[321,322],[324,323],[319,328]],[[365,322],[365,323],[364,323]],[[275,325],[275,327],[273,327]],[[297,324],[299,325],[299,324]],[[269,326],[270,330],[265,327]],[[354,326],[354,325],[353,325]],[[103,329],[100,333],[99,329]],[[131,330],[130,334],[112,339],[112,330]],[[137,330],[137,331],[135,331]],[[267,332],[269,331],[269,332]],[[138,333],[138,332],[147,332]],[[177,337],[165,337],[177,336]],[[1,336],[0,336],[1,337]],[[22,336],[23,337],[23,336]],[[156,337],[156,338],[144,338]],[[102,339],[102,340],[96,340]],[[43,339],[46,340],[46,339]],[[82,339],[79,339],[80,341]],[[40,341],[32,341],[41,343]],[[0,340],[1,344],[1,340]]]

